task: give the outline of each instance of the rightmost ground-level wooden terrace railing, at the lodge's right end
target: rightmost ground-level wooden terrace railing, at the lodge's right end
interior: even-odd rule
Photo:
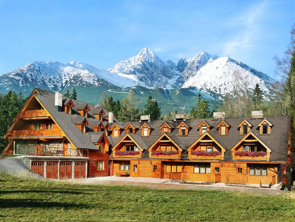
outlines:
[[[226,175],[227,184],[237,184],[237,185],[259,185],[270,184],[271,186],[276,183],[276,176],[252,176],[252,175]]]

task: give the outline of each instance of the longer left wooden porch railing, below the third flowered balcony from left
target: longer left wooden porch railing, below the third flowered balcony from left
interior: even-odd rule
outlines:
[[[182,173],[181,181],[191,181],[191,182],[209,182],[218,183],[221,182],[221,174],[189,174]]]

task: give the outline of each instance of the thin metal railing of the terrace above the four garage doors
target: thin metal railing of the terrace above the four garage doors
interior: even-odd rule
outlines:
[[[57,148],[57,147],[43,147],[26,145],[24,155],[30,156],[55,156],[55,157],[88,157],[88,150],[86,149],[72,149],[72,148]]]

